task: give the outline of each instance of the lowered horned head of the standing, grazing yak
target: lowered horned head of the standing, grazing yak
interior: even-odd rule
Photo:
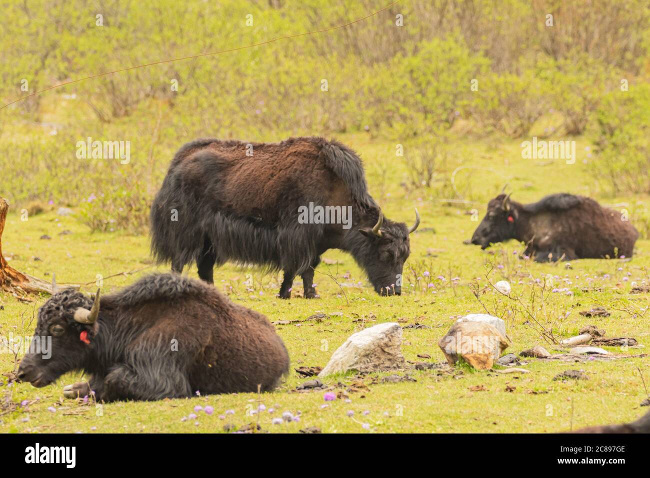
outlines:
[[[409,229],[404,222],[384,219],[381,209],[379,219],[372,227],[360,228],[361,243],[355,258],[365,269],[374,290],[380,295],[402,293],[402,269],[411,252],[408,236],[420,224],[415,209],[415,224]]]

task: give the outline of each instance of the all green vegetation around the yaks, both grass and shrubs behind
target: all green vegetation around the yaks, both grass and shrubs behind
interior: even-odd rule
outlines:
[[[0,107],[96,73],[342,25],[389,3],[0,0]],[[96,25],[98,14],[103,26]],[[402,27],[396,26],[398,14]],[[23,79],[27,92],[20,89]],[[478,90],[471,88],[474,79]],[[558,337],[593,323],[577,312],[602,302],[612,308],[612,316],[598,323],[608,336],[632,336],[647,345],[647,299],[629,292],[631,282],[647,284],[650,266],[649,80],[647,1],[402,0],[328,33],[73,83],[0,109],[0,196],[12,206],[5,251],[17,269],[44,278],[56,272],[60,282],[84,284],[84,291],[94,288],[96,274],[109,290],[129,284],[155,269],[146,237],[149,204],[181,144],[197,137],[336,137],[361,154],[370,191],[385,213],[410,222],[417,206],[422,230],[411,239],[409,293],[390,300],[376,297],[352,259],[334,251],[318,268],[317,301],[279,302],[278,278],[255,270],[227,265],[216,271],[225,293],[272,321],[303,321],[315,310],[328,315],[322,323],[278,326],[293,366],[323,366],[352,332],[395,320],[430,327],[404,330],[408,360],[420,361],[424,353],[441,362],[437,340],[459,315],[482,311],[470,286],[477,277],[485,285],[489,270],[494,280],[510,280],[521,297],[537,291],[538,280],[560,281],[571,294],[552,293],[538,310],[528,310]],[[532,136],[575,140],[577,162],[522,159],[520,144]],[[77,159],[77,141],[87,137],[129,140],[130,163]],[[626,209],[642,233],[634,259],[575,261],[565,270],[519,261],[519,245],[487,252],[462,245],[505,183],[523,202],[569,192]],[[73,215],[57,215],[63,206]],[[21,220],[21,209],[29,220]],[[51,241],[40,240],[44,234]],[[489,292],[486,298],[507,319],[508,351],[548,346],[525,311],[510,310]],[[33,312],[46,299],[24,303],[0,295],[0,334],[31,334]],[[325,351],[323,338],[330,341]],[[0,355],[0,365],[3,373],[11,371],[14,357]],[[277,402],[282,410],[302,411],[302,422],[281,428],[271,427],[270,415],[261,419],[272,431],[304,425],[362,431],[365,422],[372,431],[560,431],[640,414],[647,393],[636,367],[647,378],[647,358],[564,365],[532,364],[521,380],[467,371],[421,371],[415,383],[376,385],[372,380],[381,376],[365,378],[370,393],[348,393],[351,405],[337,400],[330,408],[320,408],[320,393],[292,392],[304,381],[292,372],[263,400],[269,408]],[[585,369],[591,380],[552,380],[573,367]],[[98,418],[87,404],[59,403],[60,385],[76,378],[40,390],[0,386],[4,403],[27,401],[13,412],[0,411],[0,430],[218,431],[226,422],[253,421],[246,412],[259,399],[242,394],[121,403],[106,406]],[[355,380],[341,378],[344,384]],[[487,392],[470,391],[478,385]],[[218,413],[196,427],[180,421],[205,403]],[[396,405],[406,410],[403,416],[396,416]],[[235,418],[217,417],[229,409]],[[361,418],[367,410],[370,417]]]

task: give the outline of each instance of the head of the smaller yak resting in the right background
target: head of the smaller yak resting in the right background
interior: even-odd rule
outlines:
[[[472,236],[472,244],[487,248],[490,244],[515,239],[515,220],[519,217],[517,203],[510,201],[510,194],[499,194],[487,204],[483,218]]]

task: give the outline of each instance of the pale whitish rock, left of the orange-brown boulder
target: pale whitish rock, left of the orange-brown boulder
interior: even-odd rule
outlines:
[[[348,370],[374,372],[403,368],[406,361],[401,345],[402,327],[398,323],[387,322],[366,328],[352,334],[334,351],[318,377]]]

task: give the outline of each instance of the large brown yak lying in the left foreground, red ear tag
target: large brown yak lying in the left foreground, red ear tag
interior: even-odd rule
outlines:
[[[82,370],[89,383],[67,386],[66,397],[92,390],[98,401],[160,400],[273,390],[289,371],[287,350],[266,317],[199,280],[153,274],[99,300],[91,324],[74,318],[93,304],[82,293],[66,289],[47,300],[34,340],[51,336],[51,357],[25,354],[18,378],[42,387]]]

